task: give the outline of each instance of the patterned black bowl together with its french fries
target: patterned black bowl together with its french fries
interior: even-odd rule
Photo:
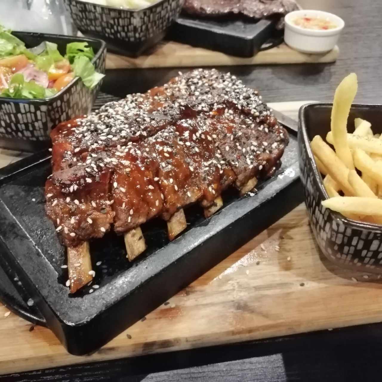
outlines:
[[[382,274],[382,105],[353,104],[357,87],[351,73],[333,104],[301,107],[301,180],[324,255],[342,267]]]

